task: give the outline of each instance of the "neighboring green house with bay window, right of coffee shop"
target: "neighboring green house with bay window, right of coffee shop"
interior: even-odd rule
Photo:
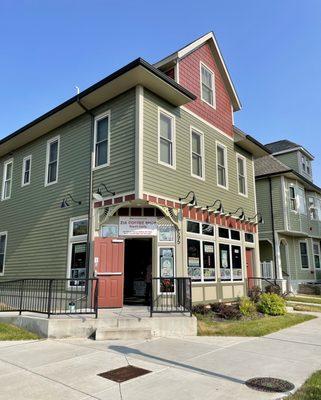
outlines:
[[[262,276],[296,292],[321,279],[321,188],[313,183],[313,156],[281,140],[267,144],[272,155],[255,161]],[[274,250],[275,249],[275,250]]]

